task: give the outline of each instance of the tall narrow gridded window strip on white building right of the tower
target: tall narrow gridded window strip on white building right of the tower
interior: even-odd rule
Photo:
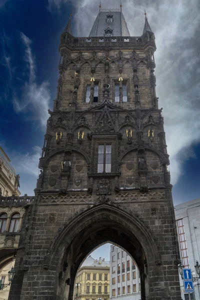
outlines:
[[[177,220],[177,227],[178,227],[178,237],[180,242],[180,251],[182,256],[182,264],[188,268],[188,255],[187,255],[187,246],[186,246],[186,239],[185,239],[185,233],[184,233],[184,224],[183,220],[179,219]]]

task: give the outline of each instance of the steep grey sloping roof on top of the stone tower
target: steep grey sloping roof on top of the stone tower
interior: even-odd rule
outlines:
[[[112,21],[107,21],[108,17]],[[104,36],[106,29],[112,31],[112,36],[130,36],[122,11],[99,11],[89,36]]]

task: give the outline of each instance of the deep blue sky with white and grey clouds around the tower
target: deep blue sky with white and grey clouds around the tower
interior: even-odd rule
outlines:
[[[117,0],[102,7],[117,7]],[[151,3],[149,3],[151,2]],[[156,91],[163,107],[174,203],[199,197],[199,2],[123,0],[131,35],[142,33],[146,8],[156,37]],[[94,0],[0,0],[0,145],[33,194],[43,135],[56,95],[59,36],[72,12],[73,33],[87,36]]]

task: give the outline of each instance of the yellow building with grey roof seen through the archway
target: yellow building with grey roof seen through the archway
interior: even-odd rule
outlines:
[[[109,261],[87,257],[80,266],[74,287],[74,300],[109,299]]]

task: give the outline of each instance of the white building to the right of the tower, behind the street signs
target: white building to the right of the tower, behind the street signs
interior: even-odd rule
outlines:
[[[194,265],[196,260],[200,262],[200,198],[175,205],[174,210],[182,264],[197,277]],[[181,277],[180,287],[183,300],[200,300],[200,278],[194,282],[195,295],[184,293]]]

